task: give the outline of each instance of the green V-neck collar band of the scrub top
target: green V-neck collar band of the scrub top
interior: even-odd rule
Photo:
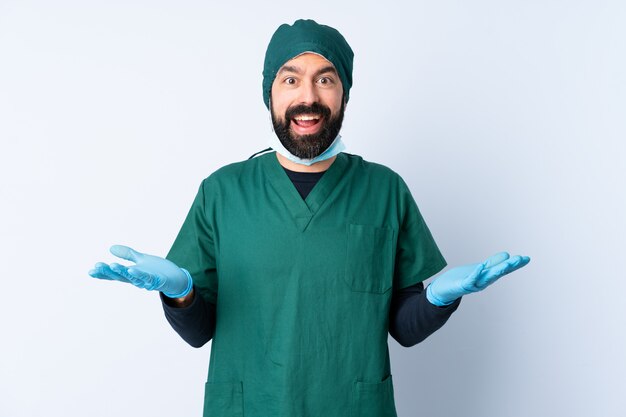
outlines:
[[[337,154],[335,161],[315,184],[306,200],[303,200],[282,165],[278,162],[276,153],[272,152],[263,155],[262,158],[265,160],[265,168],[270,185],[283,200],[296,223],[296,227],[301,232],[306,230],[315,213],[317,213],[335,188],[348,163],[344,153]]]

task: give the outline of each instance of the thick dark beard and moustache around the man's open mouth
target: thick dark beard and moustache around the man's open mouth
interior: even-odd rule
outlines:
[[[341,130],[344,110],[345,103],[343,100],[341,100],[339,112],[332,118],[330,117],[330,108],[323,104],[313,103],[310,106],[300,104],[288,108],[281,120],[276,117],[273,107],[270,106],[272,124],[278,140],[289,153],[301,159],[313,159],[328,149]],[[290,127],[291,120],[300,114],[320,116],[320,123],[323,123],[323,126],[317,133],[311,135],[294,133]]]

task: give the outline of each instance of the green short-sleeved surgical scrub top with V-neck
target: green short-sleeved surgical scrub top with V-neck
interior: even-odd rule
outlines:
[[[205,417],[396,416],[391,294],[446,265],[402,179],[345,153],[306,200],[273,152],[221,168],[168,259],[216,305]]]

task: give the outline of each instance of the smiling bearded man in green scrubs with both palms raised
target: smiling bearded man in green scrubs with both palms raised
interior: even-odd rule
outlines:
[[[423,291],[446,262],[406,184],[341,152],[352,59],[333,28],[280,26],[263,70],[274,152],[203,181],[167,260],[114,246],[136,264],[90,271],[160,291],[188,343],[213,340],[205,416],[395,416],[388,333],[420,342],[529,261],[499,253]]]

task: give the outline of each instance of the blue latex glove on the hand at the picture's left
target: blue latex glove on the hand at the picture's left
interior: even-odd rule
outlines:
[[[89,275],[94,278],[128,282],[146,290],[161,291],[169,298],[184,297],[193,288],[191,275],[171,261],[158,256],[137,252],[128,246],[113,245],[111,253],[118,258],[135,262],[124,266],[98,262]]]

